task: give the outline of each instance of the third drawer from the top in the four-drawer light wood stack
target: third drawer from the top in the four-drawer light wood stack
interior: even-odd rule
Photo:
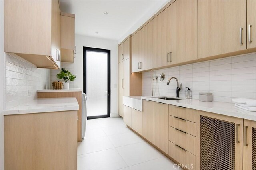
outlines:
[[[196,137],[169,126],[169,140],[196,155]]]

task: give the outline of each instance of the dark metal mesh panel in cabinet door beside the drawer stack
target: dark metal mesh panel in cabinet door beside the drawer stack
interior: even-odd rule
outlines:
[[[200,116],[201,170],[235,169],[235,123]]]

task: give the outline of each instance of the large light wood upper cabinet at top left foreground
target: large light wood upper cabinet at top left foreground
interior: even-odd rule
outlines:
[[[60,68],[58,1],[5,1],[4,13],[4,52],[38,68]]]

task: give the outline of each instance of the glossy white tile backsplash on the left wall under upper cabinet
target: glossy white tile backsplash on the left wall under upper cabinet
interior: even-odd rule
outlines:
[[[8,54],[5,63],[5,109],[37,97],[36,90],[50,86],[50,69],[40,69],[23,58]]]

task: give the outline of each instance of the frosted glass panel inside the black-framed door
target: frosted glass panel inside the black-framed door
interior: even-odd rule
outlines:
[[[87,116],[107,115],[108,54],[86,51]]]

